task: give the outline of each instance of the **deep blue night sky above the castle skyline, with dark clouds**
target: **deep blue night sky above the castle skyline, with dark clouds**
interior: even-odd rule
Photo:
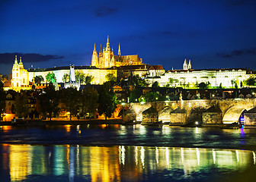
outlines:
[[[14,55],[24,67],[90,65],[96,43],[117,55],[138,54],[147,64],[181,69],[250,67],[256,70],[255,0],[0,1],[0,74]]]

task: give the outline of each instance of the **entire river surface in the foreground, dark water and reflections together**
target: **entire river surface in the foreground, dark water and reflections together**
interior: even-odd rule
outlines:
[[[0,181],[256,181],[253,129],[0,129]]]

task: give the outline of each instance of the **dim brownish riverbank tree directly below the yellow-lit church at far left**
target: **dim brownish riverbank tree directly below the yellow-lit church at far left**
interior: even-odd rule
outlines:
[[[27,99],[26,93],[17,93],[16,98],[15,98],[15,103],[16,103],[15,115],[18,118],[27,118],[27,115],[28,115],[27,102],[28,102],[28,99]]]

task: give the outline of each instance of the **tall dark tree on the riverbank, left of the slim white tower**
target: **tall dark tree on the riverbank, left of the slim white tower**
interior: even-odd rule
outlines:
[[[40,110],[43,115],[46,115],[51,121],[53,116],[59,114],[59,96],[53,83],[50,83],[43,91],[44,92],[39,97]]]

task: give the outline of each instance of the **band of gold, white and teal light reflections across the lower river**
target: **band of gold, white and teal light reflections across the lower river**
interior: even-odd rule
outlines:
[[[255,152],[247,150],[11,144],[0,149],[1,181],[215,181],[255,168]]]

